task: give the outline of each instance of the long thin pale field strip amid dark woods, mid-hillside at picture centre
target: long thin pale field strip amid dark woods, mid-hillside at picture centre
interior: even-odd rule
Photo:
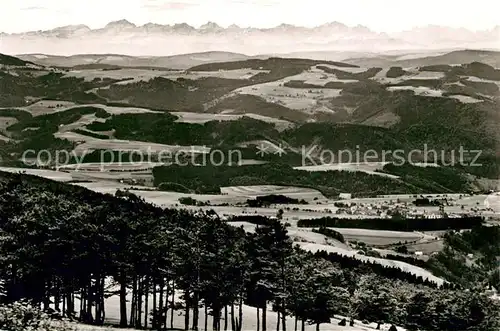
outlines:
[[[210,121],[236,121],[243,117],[250,117],[259,121],[273,123],[278,131],[286,130],[293,126],[293,123],[273,117],[262,116],[252,113],[246,114],[207,114],[207,113],[190,113],[190,112],[170,112],[170,114],[179,117],[176,122],[181,123],[197,123],[203,124]]]

